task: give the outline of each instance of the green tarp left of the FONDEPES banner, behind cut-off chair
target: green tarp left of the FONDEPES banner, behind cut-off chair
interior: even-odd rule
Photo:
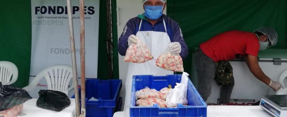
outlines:
[[[0,1],[0,61],[18,67],[17,87],[28,85],[31,59],[31,1]]]

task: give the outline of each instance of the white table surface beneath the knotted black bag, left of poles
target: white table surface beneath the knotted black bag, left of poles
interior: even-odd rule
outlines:
[[[76,113],[75,99],[70,99],[71,104],[62,111],[53,111],[36,106],[36,101],[38,99],[31,99],[25,102],[23,105],[22,112],[18,117],[74,117]],[[26,114],[26,115],[25,115]]]

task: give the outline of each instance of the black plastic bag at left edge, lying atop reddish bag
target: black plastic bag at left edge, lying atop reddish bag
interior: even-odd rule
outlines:
[[[23,104],[32,99],[25,89],[12,85],[2,85],[0,82],[0,111]]]

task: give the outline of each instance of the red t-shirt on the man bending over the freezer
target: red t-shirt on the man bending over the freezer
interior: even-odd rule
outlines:
[[[245,54],[257,56],[259,39],[251,32],[227,31],[199,45],[214,62],[232,60]]]

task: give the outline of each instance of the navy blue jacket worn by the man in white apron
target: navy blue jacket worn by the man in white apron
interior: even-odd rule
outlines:
[[[142,20],[141,23],[141,29],[139,30],[139,24]],[[119,53],[122,56],[125,56],[128,45],[127,45],[127,40],[130,35],[136,35],[137,31],[157,31],[157,32],[165,32],[164,29],[164,24],[163,24],[163,19],[166,24],[166,32],[170,38],[170,42],[179,42],[181,44],[181,53],[179,54],[183,59],[186,58],[188,54],[188,48],[187,45],[185,44],[185,41],[183,40],[183,35],[181,32],[181,29],[179,27],[179,24],[172,20],[170,17],[167,17],[166,15],[162,15],[160,20],[152,26],[150,22],[146,19],[144,16],[144,13],[141,15],[138,15],[137,17],[129,19],[127,24],[124,27],[123,33],[121,34],[119,38],[119,43],[118,43],[118,50]]]

